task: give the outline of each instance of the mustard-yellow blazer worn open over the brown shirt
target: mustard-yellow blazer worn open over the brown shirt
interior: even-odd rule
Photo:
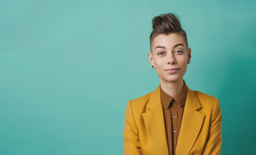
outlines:
[[[220,103],[187,87],[175,155],[220,155],[222,116]],[[159,86],[127,102],[124,155],[169,155]]]

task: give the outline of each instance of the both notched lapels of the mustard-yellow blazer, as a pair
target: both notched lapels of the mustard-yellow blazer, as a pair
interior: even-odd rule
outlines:
[[[146,106],[149,111],[143,113],[143,119],[153,145],[158,154],[168,155],[168,145],[164,124],[164,113],[160,97],[160,86],[150,94]],[[197,110],[202,108],[197,96],[187,87],[187,96],[182,116],[182,123],[177,142],[176,154],[189,154],[204,121],[204,114]]]

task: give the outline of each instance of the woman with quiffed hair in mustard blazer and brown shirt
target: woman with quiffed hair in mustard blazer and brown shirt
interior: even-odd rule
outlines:
[[[180,21],[166,13],[152,23],[148,59],[160,85],[127,102],[124,155],[220,155],[220,103],[183,80],[191,48]]]

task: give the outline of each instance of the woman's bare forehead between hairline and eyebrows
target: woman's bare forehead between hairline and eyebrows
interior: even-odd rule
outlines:
[[[182,35],[178,33],[170,33],[168,35],[160,34],[153,39],[152,48],[155,49],[154,47],[156,46],[166,46],[166,48],[170,48],[176,44],[186,44]]]

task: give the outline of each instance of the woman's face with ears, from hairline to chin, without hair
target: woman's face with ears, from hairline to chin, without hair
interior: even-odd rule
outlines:
[[[148,53],[149,62],[155,67],[160,82],[183,80],[190,58],[190,48],[187,49],[184,38],[177,33],[157,35],[151,53]]]

